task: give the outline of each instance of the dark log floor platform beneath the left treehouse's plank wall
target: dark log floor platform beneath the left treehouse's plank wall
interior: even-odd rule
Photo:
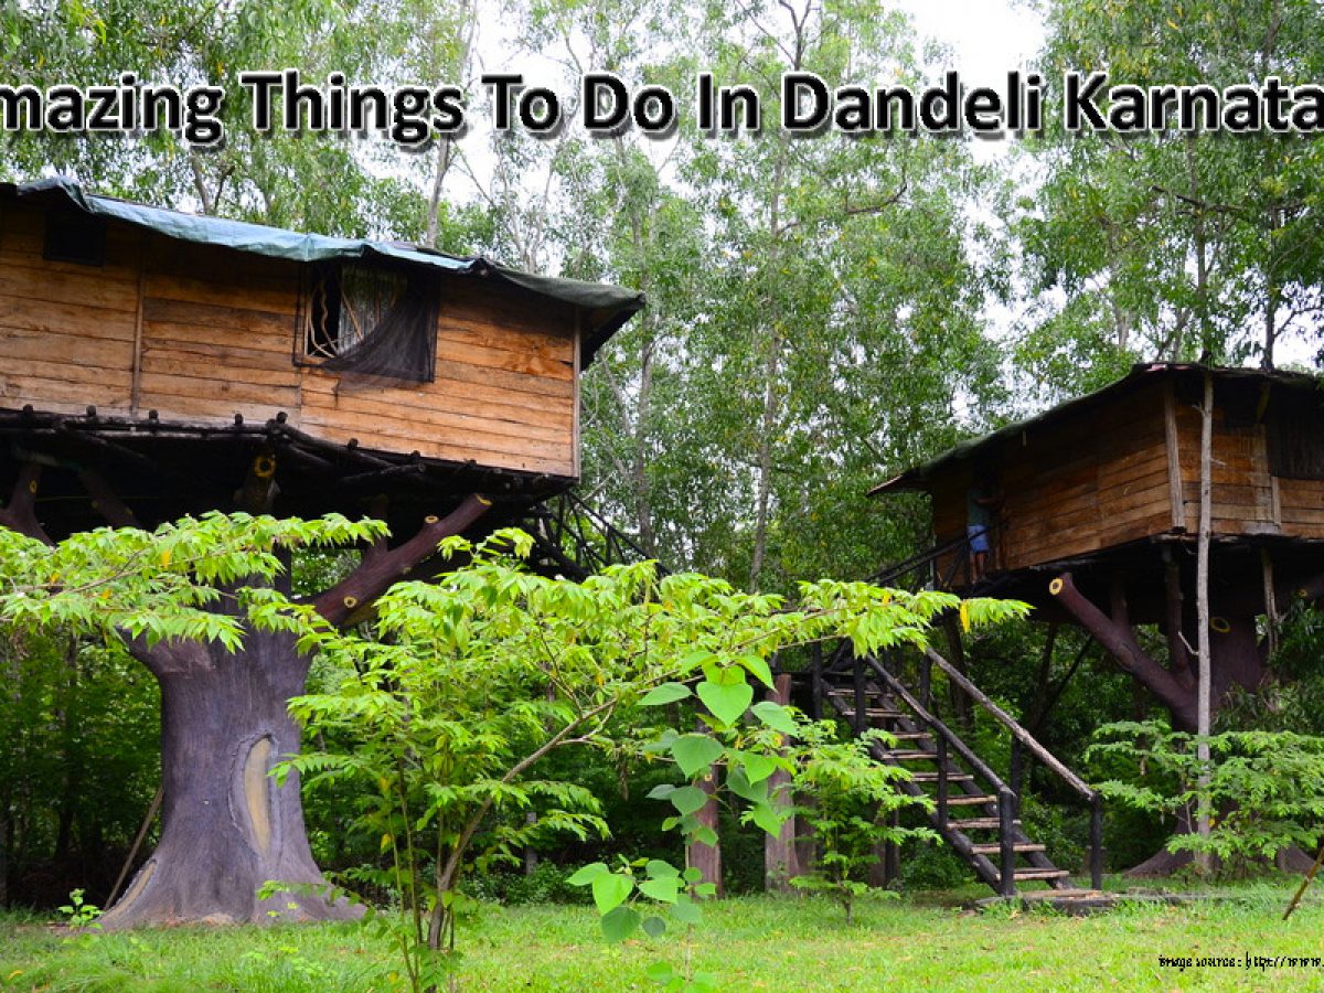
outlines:
[[[569,485],[330,442],[278,418],[218,428],[150,416],[0,410],[0,493],[13,490],[25,466],[41,470],[34,512],[56,539],[103,526],[98,499],[118,499],[143,527],[233,508],[254,471],[274,478],[271,512],[278,516],[371,514],[384,516],[397,535],[412,534],[428,515],[445,515],[471,493],[494,503],[485,528],[514,523]]]

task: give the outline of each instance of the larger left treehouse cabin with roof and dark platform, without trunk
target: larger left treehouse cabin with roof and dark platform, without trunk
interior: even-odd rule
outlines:
[[[580,373],[641,306],[482,258],[0,185],[0,491],[40,473],[50,535],[105,523],[89,495],[151,526],[237,506],[262,457],[278,515],[385,494],[408,534],[481,493],[504,523],[579,477]]]

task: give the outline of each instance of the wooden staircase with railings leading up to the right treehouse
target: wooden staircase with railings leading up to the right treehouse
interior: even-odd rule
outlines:
[[[1049,755],[1025,728],[937,653],[927,651],[925,662],[939,665],[949,679],[964,683],[961,688],[1012,731],[1013,784],[1004,781],[875,658],[850,658],[845,665],[837,658],[835,665],[814,666],[814,711],[820,716],[838,715],[857,735],[870,728],[880,728],[891,735],[895,744],[873,744],[870,751],[874,757],[911,772],[911,779],[898,782],[898,788],[932,801],[928,820],[933,830],[982,882],[1004,896],[1014,895],[1029,883],[1045,884],[1053,890],[1078,888],[1071,882],[1070,871],[1054,865],[1046,846],[1033,841],[1019,820],[1019,780],[1023,773],[1021,759],[1026,753],[1039,759],[1047,768],[1064,776],[1067,784],[1091,806],[1091,887],[1100,888],[1103,859],[1099,794]]]

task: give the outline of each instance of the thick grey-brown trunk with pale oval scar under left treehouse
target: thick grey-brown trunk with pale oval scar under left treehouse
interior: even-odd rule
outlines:
[[[299,751],[286,702],[303,692],[308,659],[294,637],[249,630],[237,654],[197,643],[132,649],[162,688],[162,839],[102,924],[359,916],[359,907],[310,892],[257,898],[267,880],[323,882],[298,775],[279,786],[267,775]]]

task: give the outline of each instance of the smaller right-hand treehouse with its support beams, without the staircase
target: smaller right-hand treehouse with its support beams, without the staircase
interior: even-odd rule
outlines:
[[[1137,365],[878,486],[933,507],[939,585],[1026,600],[1084,626],[1194,727],[1201,405],[1211,385],[1210,639],[1214,706],[1266,675],[1267,630],[1294,598],[1324,593],[1324,391],[1313,376]],[[989,493],[986,572],[972,583],[972,494]],[[1162,665],[1135,637],[1158,625]]]

